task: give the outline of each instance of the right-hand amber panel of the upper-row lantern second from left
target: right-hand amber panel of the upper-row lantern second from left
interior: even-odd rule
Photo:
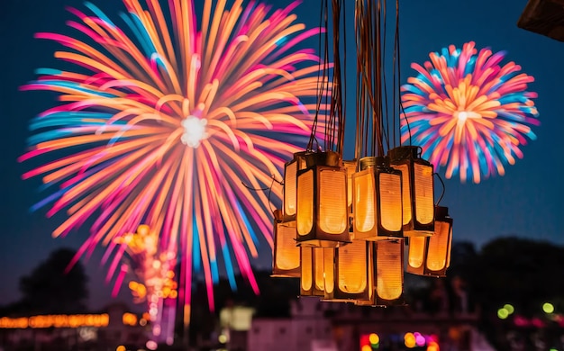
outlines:
[[[342,234],[347,229],[346,176],[333,170],[319,173],[319,225],[325,233]]]

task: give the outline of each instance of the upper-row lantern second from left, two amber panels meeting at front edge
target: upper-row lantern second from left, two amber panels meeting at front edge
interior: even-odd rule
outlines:
[[[300,246],[338,247],[350,241],[347,172],[335,152],[305,156],[297,172],[296,227]],[[323,189],[323,191],[322,191]]]

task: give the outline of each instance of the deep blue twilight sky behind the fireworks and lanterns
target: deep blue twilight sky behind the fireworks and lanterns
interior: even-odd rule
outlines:
[[[264,0],[280,7],[288,0]],[[97,0],[118,23],[123,5],[116,0]],[[349,3],[349,0],[347,0]],[[18,280],[46,259],[57,247],[79,247],[87,229],[71,233],[67,238],[53,239],[50,232],[64,220],[62,215],[45,218],[45,211],[31,212],[30,206],[41,200],[38,179],[23,181],[21,175],[32,167],[19,164],[25,139],[30,135],[27,123],[37,113],[53,106],[55,95],[45,92],[20,92],[18,87],[34,78],[37,67],[61,67],[53,58],[59,49],[55,43],[34,40],[37,31],[53,31],[75,35],[65,22],[72,18],[65,11],[70,5],[85,7],[79,0],[5,0],[0,4],[0,118],[4,131],[0,138],[0,303],[19,298]],[[394,1],[389,1],[390,7]],[[320,0],[304,0],[297,10],[298,21],[308,27],[318,24]],[[529,90],[539,94],[536,104],[541,112],[538,139],[523,148],[524,158],[506,168],[506,175],[484,180],[482,184],[459,184],[446,181],[446,195],[441,202],[450,207],[455,220],[457,240],[471,240],[478,246],[492,238],[517,235],[546,239],[564,244],[559,219],[564,211],[564,182],[557,171],[562,169],[560,132],[561,82],[564,78],[564,43],[517,28],[526,0],[403,0],[401,2],[401,46],[403,81],[414,74],[411,62],[423,63],[430,51],[450,44],[461,46],[474,40],[477,47],[494,51],[506,50],[523,71],[536,78]],[[349,6],[352,5],[350,0]],[[349,14],[352,13],[349,7]],[[349,25],[352,25],[349,21]],[[389,31],[393,31],[390,27]],[[352,33],[352,30],[349,31]],[[353,40],[350,38],[350,43]],[[306,43],[317,48],[317,41]],[[350,60],[352,61],[352,59]],[[353,74],[354,67],[349,72]],[[349,79],[353,81],[354,76]],[[354,95],[350,94],[353,98]],[[349,101],[351,106],[354,103]],[[352,112],[352,111],[350,111]],[[350,148],[347,148],[350,154]],[[103,306],[109,300],[110,287],[104,283],[105,267],[100,266],[101,251],[85,262],[91,278],[91,306]],[[268,246],[261,247],[256,266],[268,267]],[[122,299],[127,300],[124,292]]]

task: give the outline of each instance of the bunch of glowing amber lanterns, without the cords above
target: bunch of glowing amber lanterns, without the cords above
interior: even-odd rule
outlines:
[[[416,148],[401,148],[361,158],[358,171],[339,161],[286,173],[283,208],[296,211],[275,215],[273,276],[300,278],[302,296],[387,306],[404,303],[405,271],[446,275],[452,219],[434,205],[432,165],[411,152]]]

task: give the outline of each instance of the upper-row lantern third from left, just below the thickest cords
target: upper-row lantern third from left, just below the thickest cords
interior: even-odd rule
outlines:
[[[360,159],[352,175],[354,238],[378,240],[402,237],[402,174],[387,157]]]

